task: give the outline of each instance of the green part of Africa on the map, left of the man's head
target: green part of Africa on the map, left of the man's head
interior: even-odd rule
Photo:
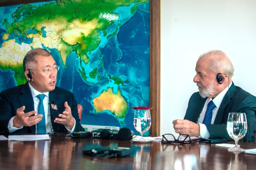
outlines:
[[[26,77],[24,74],[23,65],[17,64],[16,66],[13,66],[13,65],[10,66],[10,65],[0,64],[0,69],[2,69],[2,70],[12,69],[12,71],[14,71],[14,78],[17,82],[17,85],[26,83]]]

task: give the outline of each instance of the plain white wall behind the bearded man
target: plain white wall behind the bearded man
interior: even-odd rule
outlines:
[[[200,54],[223,50],[236,86],[256,96],[256,1],[161,0],[161,135],[183,119]]]

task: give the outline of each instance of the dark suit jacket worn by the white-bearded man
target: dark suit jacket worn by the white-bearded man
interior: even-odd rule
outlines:
[[[230,99],[229,99],[230,94]],[[188,108],[184,119],[197,123],[197,119],[202,112],[207,98],[202,98],[199,92],[192,94],[188,102]],[[230,112],[246,113],[247,132],[240,141],[255,142],[255,126],[256,126],[256,97],[246,92],[234,83],[229,88],[222,100],[217,112],[214,124],[206,124],[207,130],[210,132],[210,138],[222,138],[233,140],[227,134],[227,116]]]

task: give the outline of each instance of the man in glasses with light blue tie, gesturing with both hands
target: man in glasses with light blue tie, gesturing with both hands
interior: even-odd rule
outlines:
[[[84,131],[74,94],[56,87],[59,66],[44,49],[24,57],[24,85],[0,93],[0,133],[49,133]]]

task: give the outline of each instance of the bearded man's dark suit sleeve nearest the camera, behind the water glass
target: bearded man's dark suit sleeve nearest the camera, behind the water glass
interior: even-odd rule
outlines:
[[[229,112],[245,113],[247,120],[247,132],[244,138],[240,139],[242,142],[254,142],[255,140],[255,127],[256,127],[256,97],[249,95],[245,96],[242,100],[233,103],[233,106]],[[223,138],[231,139],[227,134],[227,124],[206,124],[208,131],[210,132],[210,138]]]

